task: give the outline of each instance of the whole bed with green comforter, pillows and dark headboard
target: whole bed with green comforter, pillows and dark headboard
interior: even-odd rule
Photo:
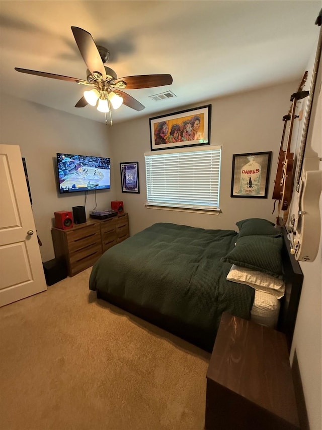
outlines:
[[[238,232],[153,224],[106,251],[89,287],[207,351],[223,312],[277,327],[290,346],[303,276],[285,231],[259,218],[236,225]]]

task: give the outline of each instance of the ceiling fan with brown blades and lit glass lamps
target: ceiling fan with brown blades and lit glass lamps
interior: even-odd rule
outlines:
[[[84,96],[77,101],[75,107],[85,107],[87,104],[97,106],[99,111],[105,113],[106,124],[106,113],[110,112],[111,115],[111,104],[114,109],[117,109],[122,104],[137,111],[144,109],[143,104],[122,91],[123,89],[133,90],[172,84],[171,75],[138,75],[117,78],[113,69],[104,66],[108,62],[109,51],[104,46],[96,45],[92,35],[88,31],[79,27],[71,27],[71,31],[84,62],[88,67],[87,80],[39,72],[37,70],[21,69],[19,67],[15,67],[15,70],[30,75],[60,79],[62,81],[70,81],[93,87],[88,91],[84,91]],[[112,125],[112,116],[110,117]]]

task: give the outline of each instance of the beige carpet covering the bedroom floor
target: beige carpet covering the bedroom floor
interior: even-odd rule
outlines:
[[[210,354],[88,288],[0,308],[1,430],[202,430]]]

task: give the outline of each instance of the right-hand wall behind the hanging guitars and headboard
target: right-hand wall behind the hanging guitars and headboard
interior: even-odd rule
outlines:
[[[315,49],[312,51],[307,65],[307,70],[309,73],[306,85],[304,87],[305,90],[310,90],[316,54],[315,51]],[[317,157],[317,159],[319,158],[321,160],[321,63],[316,77],[316,86],[314,93],[312,93],[312,98],[312,113],[309,121],[304,157]],[[307,107],[308,99],[309,97],[304,99],[302,102],[302,109],[304,112]],[[299,109],[300,108],[301,107],[299,107]],[[302,143],[301,138],[304,121],[302,122],[303,124],[301,125],[299,133],[295,134],[294,139],[292,139],[291,150],[295,154],[299,154],[299,149]],[[321,170],[322,163],[317,162],[317,166],[318,164],[319,170]],[[296,201],[295,192],[293,192],[292,198],[292,202],[294,201]],[[319,207],[321,214],[321,196],[319,201],[318,198],[315,198],[315,202],[312,203],[314,204],[313,207],[315,207],[316,210],[318,210]],[[306,207],[302,209],[306,209]],[[309,211],[307,216],[310,216]],[[306,224],[306,228],[309,227],[310,226]],[[317,237],[320,238],[319,250],[315,260],[313,262],[300,262],[301,270],[304,275],[304,281],[291,350],[291,358],[295,356],[296,367],[298,367],[298,371],[301,376],[301,385],[308,414],[308,424],[305,422],[305,417],[303,417],[303,430],[306,430],[306,428],[310,428],[310,430],[320,430],[322,428],[322,231],[316,231],[315,233]]]

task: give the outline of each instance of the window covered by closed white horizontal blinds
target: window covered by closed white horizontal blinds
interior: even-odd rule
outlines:
[[[149,206],[219,211],[221,147],[144,154]]]

